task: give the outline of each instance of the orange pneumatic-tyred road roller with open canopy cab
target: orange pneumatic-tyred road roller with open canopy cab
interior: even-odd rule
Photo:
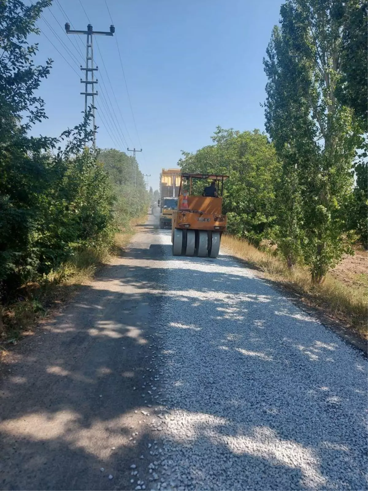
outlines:
[[[218,256],[221,235],[226,231],[227,224],[227,217],[222,213],[222,193],[228,177],[181,174],[178,208],[173,212],[171,229],[174,256]],[[215,185],[214,195],[198,195],[199,187],[203,190],[210,181]]]

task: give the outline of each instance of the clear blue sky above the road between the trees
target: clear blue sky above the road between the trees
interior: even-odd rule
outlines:
[[[81,2],[93,28],[109,30],[111,21],[105,0]],[[79,0],[59,0],[59,3],[76,29],[86,29],[88,21]],[[260,103],[265,98],[266,79],[262,60],[272,27],[278,23],[281,3],[281,0],[107,0],[143,148],[143,153],[137,154],[137,160],[142,172],[151,174],[149,184],[154,189],[158,188],[161,168],[175,167],[181,150],[195,151],[210,144],[210,136],[217,125],[241,131],[264,130]],[[77,56],[78,63],[84,64],[53,18],[54,15],[64,26],[65,15],[55,0],[50,10],[44,12],[45,19]],[[77,61],[65,51],[43,19],[39,27],[43,34],[38,39],[40,53],[37,58],[42,60],[50,56],[54,65],[40,91],[49,119],[36,128],[36,133],[54,136],[81,119],[84,100],[79,92],[84,89],[79,78],[83,74]],[[74,43],[79,42],[84,56],[85,37],[83,44],[76,36],[69,37],[73,37]],[[139,148],[116,41],[101,36],[98,44],[120,110],[95,46],[95,59],[100,69],[97,77],[100,82],[101,77],[105,82],[130,148]],[[103,85],[99,85],[104,92]],[[97,107],[103,104],[101,100],[99,95]],[[109,136],[111,132],[106,131],[99,111],[97,124],[100,126],[98,146],[115,148]],[[119,149],[126,151],[123,144]]]

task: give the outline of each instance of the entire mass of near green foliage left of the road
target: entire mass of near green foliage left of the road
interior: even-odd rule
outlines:
[[[115,174],[110,178],[98,152],[85,146],[92,138],[90,112],[59,138],[29,136],[47,117],[36,94],[52,61],[35,66],[37,44],[27,38],[38,33],[36,21],[50,4],[0,1],[0,297],[81,248],[108,246],[116,228],[114,191],[120,185],[112,186]]]

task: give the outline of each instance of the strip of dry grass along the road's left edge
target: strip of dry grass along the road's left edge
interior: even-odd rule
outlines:
[[[39,283],[24,285],[18,301],[0,303],[0,357],[4,343],[15,343],[22,332],[34,327],[41,318],[48,317],[53,309],[63,304],[80,285],[93,280],[98,268],[118,256],[126,247],[134,226],[143,218],[134,219],[131,225],[116,234],[112,247],[101,246],[80,250],[71,261],[61,265]],[[2,344],[1,344],[2,343]]]

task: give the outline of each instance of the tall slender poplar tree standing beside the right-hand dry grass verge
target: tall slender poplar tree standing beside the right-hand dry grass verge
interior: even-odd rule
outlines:
[[[344,252],[351,252],[344,206],[352,192],[352,161],[361,132],[352,110],[335,95],[341,77],[342,6],[336,0],[286,1],[264,61],[266,130],[290,171],[284,176],[288,181],[291,176],[287,185],[298,203],[295,214],[285,215],[290,242],[298,250],[300,241],[316,283]]]

